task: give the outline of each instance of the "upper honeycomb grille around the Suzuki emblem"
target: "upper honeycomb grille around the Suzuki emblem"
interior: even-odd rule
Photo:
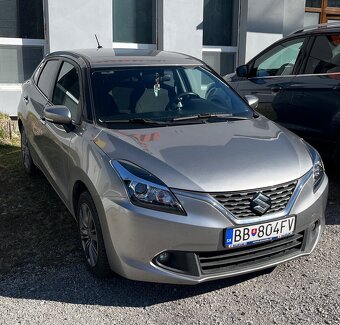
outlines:
[[[250,201],[257,193],[263,193],[271,199],[271,207],[266,214],[279,212],[284,210],[287,206],[295,190],[296,184],[297,181],[293,181],[264,189],[242,192],[210,193],[210,195],[228,209],[235,217],[248,218],[257,216],[250,209]]]

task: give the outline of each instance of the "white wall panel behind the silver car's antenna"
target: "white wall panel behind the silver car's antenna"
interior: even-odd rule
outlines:
[[[112,48],[112,1],[49,0],[47,39],[49,52],[97,46]]]

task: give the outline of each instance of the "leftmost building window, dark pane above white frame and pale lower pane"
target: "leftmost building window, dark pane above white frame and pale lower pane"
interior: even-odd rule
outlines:
[[[43,39],[43,0],[0,0],[0,83],[32,75],[44,56]]]

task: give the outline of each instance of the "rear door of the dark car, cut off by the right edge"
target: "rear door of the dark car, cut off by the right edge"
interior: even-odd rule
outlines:
[[[292,87],[291,108],[278,111],[282,124],[319,149],[335,149],[340,138],[339,32],[313,36],[309,55]]]

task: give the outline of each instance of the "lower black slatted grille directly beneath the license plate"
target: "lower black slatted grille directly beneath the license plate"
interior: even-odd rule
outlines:
[[[276,258],[301,251],[303,233],[286,238],[219,252],[197,253],[202,274],[232,272],[261,266]]]

